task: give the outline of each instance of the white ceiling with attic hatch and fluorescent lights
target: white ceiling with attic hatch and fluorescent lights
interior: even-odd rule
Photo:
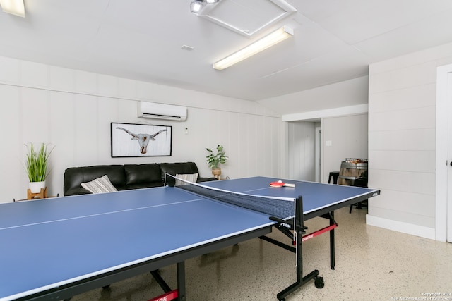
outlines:
[[[25,0],[26,18],[0,12],[0,56],[262,100],[359,78],[369,63],[452,42],[451,0],[287,0],[297,12],[252,37],[190,13],[190,2]],[[294,37],[212,68],[281,25]]]

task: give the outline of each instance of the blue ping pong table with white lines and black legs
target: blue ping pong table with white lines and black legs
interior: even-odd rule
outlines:
[[[273,180],[205,185],[252,195],[302,196],[302,218],[292,225],[300,234],[306,219],[328,215],[333,225],[335,209],[379,195],[368,188],[290,180],[286,182],[295,188],[270,188]],[[265,238],[274,227],[290,235],[284,221],[173,187],[0,204],[0,300],[63,300],[150,271],[158,276],[157,269],[171,264],[177,264],[178,288],[170,291],[157,279],[165,290],[159,298],[186,300],[186,259]],[[299,258],[301,242],[295,243]],[[333,252],[331,260],[333,268]],[[279,300],[316,278],[318,271],[301,274],[297,267],[297,283],[279,293]]]

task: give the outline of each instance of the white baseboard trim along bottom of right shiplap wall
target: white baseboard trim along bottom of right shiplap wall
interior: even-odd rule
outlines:
[[[388,230],[435,240],[434,228],[413,225],[412,223],[404,223],[402,221],[393,221],[391,219],[383,219],[382,217],[371,216],[369,214],[366,215],[366,223],[370,226],[376,226]]]

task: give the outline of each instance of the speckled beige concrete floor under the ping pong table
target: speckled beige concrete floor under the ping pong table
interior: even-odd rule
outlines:
[[[304,242],[304,274],[318,269],[325,287],[311,281],[287,301],[452,300],[451,243],[367,226],[365,214],[366,209],[336,211],[335,270],[329,266],[328,234]],[[323,219],[307,221],[309,231],[326,225]],[[270,236],[288,240],[279,231]],[[167,266],[161,274],[174,287],[176,267]],[[186,262],[187,300],[277,300],[276,294],[295,280],[295,254],[259,239]],[[144,274],[72,300],[145,301],[162,293]],[[435,293],[444,295],[429,295]]]

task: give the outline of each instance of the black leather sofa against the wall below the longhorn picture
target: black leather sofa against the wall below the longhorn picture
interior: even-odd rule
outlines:
[[[165,185],[165,173],[172,176],[198,173],[197,182],[217,180],[201,178],[194,162],[83,166],[67,168],[64,171],[63,192],[65,196],[90,194],[81,183],[105,175],[117,190],[160,187]],[[167,179],[166,185],[174,185],[174,179]]]

